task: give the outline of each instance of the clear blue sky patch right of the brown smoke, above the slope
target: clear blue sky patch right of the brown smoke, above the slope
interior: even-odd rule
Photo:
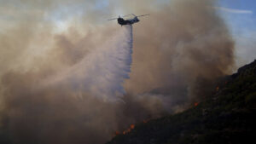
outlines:
[[[237,65],[255,59],[256,55],[256,1],[222,0],[219,12],[236,40]]]

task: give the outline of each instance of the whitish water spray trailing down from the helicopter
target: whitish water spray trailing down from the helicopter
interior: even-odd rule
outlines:
[[[123,26],[102,47],[86,55],[66,72],[52,78],[52,84],[71,84],[76,92],[94,95],[103,101],[117,101],[125,94],[123,83],[131,72],[131,54],[132,26]]]

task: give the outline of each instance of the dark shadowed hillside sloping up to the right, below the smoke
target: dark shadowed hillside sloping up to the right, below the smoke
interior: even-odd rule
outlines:
[[[137,124],[107,144],[253,143],[255,110],[256,60],[218,80],[216,92],[195,107]]]

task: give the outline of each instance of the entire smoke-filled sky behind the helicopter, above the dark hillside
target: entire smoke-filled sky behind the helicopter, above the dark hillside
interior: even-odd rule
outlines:
[[[1,0],[0,143],[100,144],[201,101],[254,59],[254,2],[236,2]],[[150,16],[108,21],[131,13]]]

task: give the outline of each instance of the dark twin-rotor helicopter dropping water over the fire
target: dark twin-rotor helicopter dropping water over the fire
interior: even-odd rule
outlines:
[[[133,19],[124,20],[124,17],[129,16],[129,15],[133,15],[134,18],[133,18]],[[140,21],[140,20],[138,19],[138,17],[147,16],[147,15],[149,15],[149,14],[143,14],[143,15],[138,15],[138,16],[135,15],[135,14],[127,14],[127,15],[125,15],[125,16],[122,16],[123,18],[120,17],[120,15],[119,15],[118,18],[113,18],[113,19],[109,19],[109,20],[117,20],[118,23],[119,23],[119,25],[121,25],[121,26],[123,26],[123,25],[133,25],[134,23],[137,23],[137,22]]]

